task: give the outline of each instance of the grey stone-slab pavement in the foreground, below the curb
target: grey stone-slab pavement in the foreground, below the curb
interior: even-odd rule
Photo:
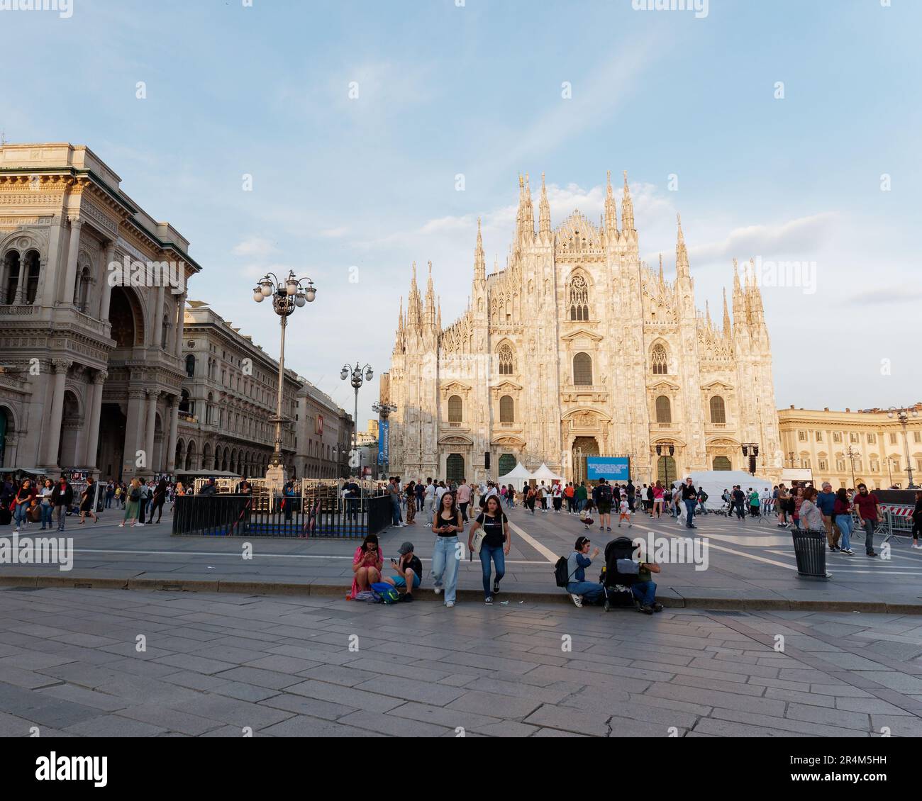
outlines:
[[[0,735],[922,736],[920,654],[918,616],[10,587]]]

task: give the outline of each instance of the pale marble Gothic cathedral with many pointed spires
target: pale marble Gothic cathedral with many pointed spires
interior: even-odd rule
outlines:
[[[589,454],[626,455],[635,480],[691,470],[780,474],[772,357],[762,295],[734,261],[732,321],[695,306],[679,224],[676,277],[639,256],[625,174],[621,225],[610,176],[598,225],[573,211],[551,227],[542,176],[538,230],[519,178],[505,269],[487,274],[478,226],[467,310],[443,328],[432,284],[401,299],[391,370],[391,473],[499,477],[521,460],[585,477]],[[658,452],[657,452],[658,449]],[[489,468],[487,460],[489,459]]]

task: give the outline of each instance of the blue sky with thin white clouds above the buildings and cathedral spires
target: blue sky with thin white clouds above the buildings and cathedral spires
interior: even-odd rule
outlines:
[[[597,219],[606,171],[617,192],[627,170],[642,257],[674,273],[680,212],[715,319],[734,257],[764,276],[808,265],[762,288],[777,406],[922,399],[922,3],[654,2],[14,7],[0,10],[0,129],[89,146],[191,241],[190,297],[269,354],[278,318],[255,281],[311,277],[286,363],[349,411],[339,371],[370,363],[361,429],[410,264],[424,281],[432,262],[447,326],[467,305],[477,218],[488,270],[505,263],[519,172],[536,206],[546,173],[556,227],[577,207]]]

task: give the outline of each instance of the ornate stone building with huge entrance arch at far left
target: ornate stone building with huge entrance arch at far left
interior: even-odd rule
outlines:
[[[172,471],[189,242],[88,147],[0,147],[3,466]],[[110,265],[170,265],[114,281]],[[170,271],[167,271],[170,272]]]

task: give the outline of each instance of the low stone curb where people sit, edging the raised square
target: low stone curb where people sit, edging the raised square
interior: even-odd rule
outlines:
[[[50,575],[10,576],[0,575],[0,586],[65,587],[78,589],[115,590],[161,590],[164,592],[239,593],[247,595],[323,595],[345,597],[348,588],[344,584],[245,582],[245,581],[203,581],[200,579],[146,579],[146,578],[93,578],[92,576]],[[431,590],[414,596],[420,601],[435,601]],[[479,590],[458,590],[459,601],[479,602],[483,593]],[[497,596],[496,603],[510,604],[531,601],[541,604],[567,604],[570,596],[557,593],[506,593]],[[864,612],[888,615],[922,615],[922,603],[892,603],[883,601],[798,601],[786,598],[708,598],[669,597],[657,598],[664,607],[685,609],[715,609],[736,611],[802,611],[802,612]]]

